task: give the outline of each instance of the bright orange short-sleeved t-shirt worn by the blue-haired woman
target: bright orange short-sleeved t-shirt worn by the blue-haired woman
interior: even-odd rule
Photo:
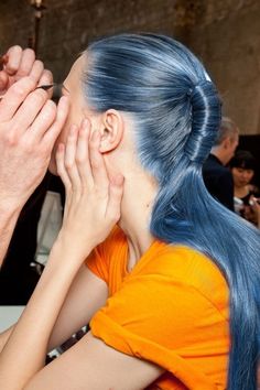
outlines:
[[[128,243],[115,229],[87,260],[109,289],[93,334],[124,354],[165,369],[149,389],[226,388],[228,286],[212,260],[155,240],[131,272]]]

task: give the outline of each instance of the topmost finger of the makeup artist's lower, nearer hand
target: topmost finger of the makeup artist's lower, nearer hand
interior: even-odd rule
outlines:
[[[2,121],[12,119],[18,108],[26,96],[35,88],[35,82],[31,77],[23,77],[14,83],[6,93],[0,104],[0,118]]]

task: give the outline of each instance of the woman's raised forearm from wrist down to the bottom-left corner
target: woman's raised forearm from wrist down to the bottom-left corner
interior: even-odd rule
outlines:
[[[84,260],[78,256],[71,242],[66,248],[64,242],[54,245],[40,282],[0,354],[1,389],[22,390],[44,366],[51,332]]]

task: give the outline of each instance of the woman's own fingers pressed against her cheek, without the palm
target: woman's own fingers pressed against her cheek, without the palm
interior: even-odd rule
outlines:
[[[107,198],[109,215],[120,214],[123,177],[109,177],[102,154],[99,152],[100,134],[90,136],[90,122],[85,120],[80,128],[73,126],[66,145],[59,145],[56,153],[57,172],[68,189],[93,192],[95,196]]]

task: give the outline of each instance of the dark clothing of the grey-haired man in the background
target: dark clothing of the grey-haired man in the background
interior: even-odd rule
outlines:
[[[234,212],[232,174],[214,154],[209,154],[203,166],[203,178],[212,196]]]

